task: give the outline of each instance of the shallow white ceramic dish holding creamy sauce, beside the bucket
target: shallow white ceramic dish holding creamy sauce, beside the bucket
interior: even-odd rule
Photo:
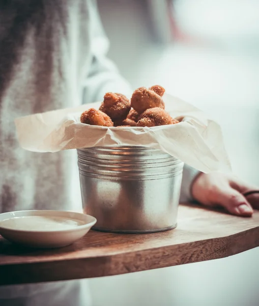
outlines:
[[[87,234],[95,223],[96,218],[74,212],[17,211],[0,214],[0,234],[11,242],[25,246],[54,248],[75,242]]]

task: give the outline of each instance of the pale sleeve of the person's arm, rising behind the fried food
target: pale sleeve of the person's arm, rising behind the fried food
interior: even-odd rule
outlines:
[[[130,97],[130,84],[122,77],[116,65],[106,55],[109,41],[105,36],[95,0],[91,0],[90,44],[91,68],[83,84],[83,103],[101,101],[106,92],[120,92]]]

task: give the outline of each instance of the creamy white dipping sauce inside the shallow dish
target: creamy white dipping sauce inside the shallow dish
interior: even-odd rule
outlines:
[[[77,219],[56,216],[25,216],[0,221],[1,227],[11,230],[37,232],[71,230],[83,224],[83,221]]]

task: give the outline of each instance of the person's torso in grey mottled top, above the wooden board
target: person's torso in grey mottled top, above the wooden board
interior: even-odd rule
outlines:
[[[72,209],[71,154],[18,146],[14,119],[81,103],[90,66],[87,0],[4,2],[0,10],[0,212]]]

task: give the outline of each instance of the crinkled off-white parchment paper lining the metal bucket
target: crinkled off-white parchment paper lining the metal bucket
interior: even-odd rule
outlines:
[[[231,170],[220,126],[185,101],[164,94],[165,110],[180,123],[154,127],[106,127],[80,122],[80,115],[101,103],[56,110],[15,120],[20,146],[35,152],[116,145],[161,149],[203,172]]]

